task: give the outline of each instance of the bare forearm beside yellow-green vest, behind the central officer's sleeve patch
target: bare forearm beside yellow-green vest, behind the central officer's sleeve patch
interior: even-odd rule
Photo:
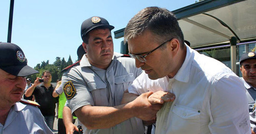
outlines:
[[[72,123],[73,117],[71,113],[71,109],[68,106],[64,106],[63,108],[63,122],[66,127],[66,133],[70,134],[73,133],[75,130],[78,131],[78,128],[76,125]]]

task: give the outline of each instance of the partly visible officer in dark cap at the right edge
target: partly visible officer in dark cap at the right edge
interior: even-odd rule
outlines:
[[[242,81],[246,88],[246,96],[250,112],[251,133],[256,132],[256,55],[255,52],[248,52],[240,58],[240,71],[242,73]]]

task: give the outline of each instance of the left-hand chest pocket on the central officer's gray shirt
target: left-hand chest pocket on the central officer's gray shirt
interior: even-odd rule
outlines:
[[[109,106],[110,92],[104,82],[97,81],[96,83],[95,81],[89,81],[87,85],[89,86],[88,91],[92,95],[95,106]]]

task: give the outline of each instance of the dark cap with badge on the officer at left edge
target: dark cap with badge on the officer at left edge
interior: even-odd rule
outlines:
[[[29,76],[39,73],[27,64],[27,59],[14,43],[0,42],[0,69],[14,76]]]

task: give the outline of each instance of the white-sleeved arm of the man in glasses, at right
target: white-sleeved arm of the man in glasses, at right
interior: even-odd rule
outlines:
[[[214,81],[209,105],[211,133],[251,133],[244,85],[237,76]]]

